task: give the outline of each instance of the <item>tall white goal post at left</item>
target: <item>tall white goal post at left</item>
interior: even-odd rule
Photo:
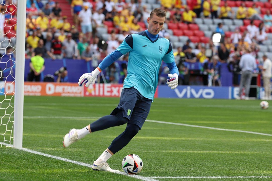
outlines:
[[[24,61],[26,42],[26,1],[17,1],[15,94],[14,94],[14,130],[13,146],[23,146],[23,109],[24,109]]]

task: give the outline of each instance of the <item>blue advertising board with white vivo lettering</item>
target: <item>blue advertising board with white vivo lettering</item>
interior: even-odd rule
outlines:
[[[171,90],[158,86],[158,97],[163,98],[231,99],[231,92],[231,87],[178,86]]]

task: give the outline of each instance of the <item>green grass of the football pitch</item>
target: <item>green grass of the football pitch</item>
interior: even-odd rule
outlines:
[[[4,97],[1,97],[3,100]],[[24,98],[23,147],[74,161],[92,164],[125,125],[94,132],[65,149],[63,136],[110,114],[119,98],[36,97]],[[261,110],[260,100],[162,99],[152,103],[147,119],[232,130],[272,134],[272,107]],[[2,103],[2,107],[8,102]],[[270,101],[272,106],[272,102]],[[0,111],[1,117],[3,110]],[[3,118],[2,121],[7,120]],[[3,125],[0,133],[3,133]],[[2,137],[0,137],[2,140]],[[128,154],[143,159],[138,174],[148,177],[272,176],[272,137],[241,132],[146,122],[142,130],[110,160],[122,171]],[[120,174],[0,147],[0,180],[139,180]],[[272,180],[272,178],[156,180]]]

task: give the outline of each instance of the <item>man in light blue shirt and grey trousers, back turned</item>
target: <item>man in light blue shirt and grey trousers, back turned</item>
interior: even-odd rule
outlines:
[[[246,54],[242,55],[239,67],[242,69],[242,76],[239,86],[239,97],[242,96],[242,89],[245,87],[245,100],[249,100],[249,89],[251,85],[252,72],[257,68],[256,59],[251,55],[251,49],[246,49]]]

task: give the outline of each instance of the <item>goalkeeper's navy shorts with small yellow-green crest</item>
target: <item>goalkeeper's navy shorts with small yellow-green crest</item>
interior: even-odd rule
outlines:
[[[110,114],[115,115],[122,111],[123,117],[129,120],[128,123],[136,124],[141,130],[149,114],[151,103],[151,99],[145,98],[134,87],[123,89],[118,106]]]

